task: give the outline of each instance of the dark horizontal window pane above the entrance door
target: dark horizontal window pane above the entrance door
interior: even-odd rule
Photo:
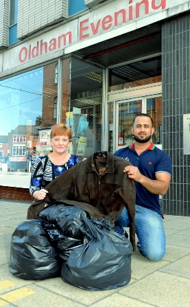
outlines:
[[[161,56],[110,69],[110,91],[161,82]]]

